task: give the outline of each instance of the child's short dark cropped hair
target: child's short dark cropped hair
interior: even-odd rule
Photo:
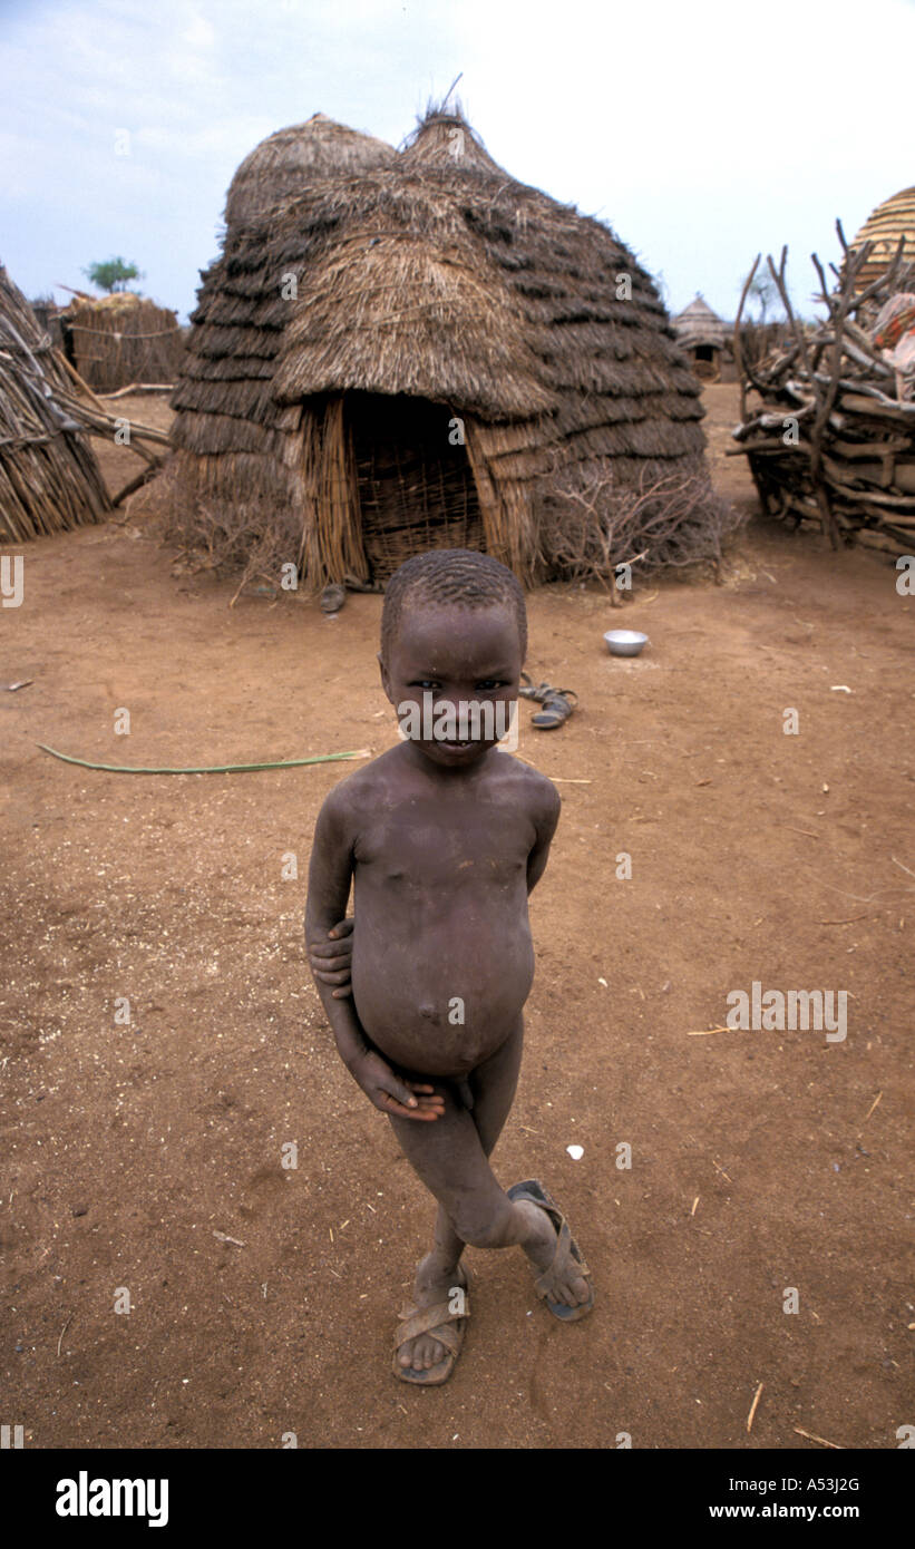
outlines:
[[[413,603],[457,603],[481,609],[502,603],[514,610],[522,661],[528,649],[528,612],[519,578],[492,555],[475,548],[430,548],[406,559],[384,592],[381,655],[387,661],[401,617]]]

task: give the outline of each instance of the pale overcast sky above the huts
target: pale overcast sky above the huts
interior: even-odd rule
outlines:
[[[732,318],[782,243],[810,311],[836,215],[915,183],[915,0],[0,0],[0,262],[36,296],[119,254],[184,318],[265,135],[320,112],[399,144],[458,71],[491,155],[672,311]]]

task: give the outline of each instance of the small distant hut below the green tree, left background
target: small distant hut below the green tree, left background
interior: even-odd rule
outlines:
[[[79,291],[59,321],[67,359],[96,392],[178,378],[184,355],[178,316],[146,296]]]

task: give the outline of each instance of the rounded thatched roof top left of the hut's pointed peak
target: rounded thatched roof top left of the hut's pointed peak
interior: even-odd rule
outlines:
[[[396,161],[384,139],[359,135],[314,113],[307,124],[277,129],[245,161],[229,183],[226,226],[240,226],[266,215],[285,198],[302,194],[316,178],[364,172]]]

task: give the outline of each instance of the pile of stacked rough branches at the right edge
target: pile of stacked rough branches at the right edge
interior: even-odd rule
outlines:
[[[768,268],[790,325],[790,342],[751,364],[740,349],[740,327],[757,256],[746,277],[734,327],[740,378],[742,445],[728,455],[749,462],[763,510],[794,527],[816,525],[833,548],[869,542],[892,551],[915,547],[915,398],[876,339],[886,304],[915,290],[915,263],[904,260],[904,240],[887,270],[870,285],[859,274],[872,243],[850,251],[841,222],[841,270],[836,283],[817,256],[817,304],[825,319],[805,325],[796,316],[785,282],[788,249]]]

